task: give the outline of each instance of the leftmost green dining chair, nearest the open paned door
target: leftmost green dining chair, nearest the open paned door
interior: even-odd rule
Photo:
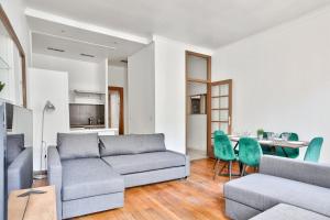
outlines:
[[[222,170],[228,167],[229,170],[229,179],[232,177],[232,162],[238,160],[238,155],[235,155],[232,144],[226,134],[215,134],[215,156],[217,160],[216,170],[213,179],[217,175],[221,174]],[[222,168],[219,168],[219,162],[226,162]]]

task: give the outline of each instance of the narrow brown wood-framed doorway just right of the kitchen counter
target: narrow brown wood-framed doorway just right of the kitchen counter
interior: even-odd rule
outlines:
[[[109,127],[117,128],[118,133],[124,134],[124,100],[123,87],[108,87],[109,94]]]

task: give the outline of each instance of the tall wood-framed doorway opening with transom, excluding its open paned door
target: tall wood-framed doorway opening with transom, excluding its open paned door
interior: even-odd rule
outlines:
[[[191,160],[208,155],[208,109],[211,57],[186,52],[186,152]]]

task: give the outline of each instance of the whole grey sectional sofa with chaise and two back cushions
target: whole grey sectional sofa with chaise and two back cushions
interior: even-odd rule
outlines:
[[[120,208],[124,188],[185,178],[189,158],[167,151],[163,134],[57,134],[48,148],[48,184],[59,219]]]

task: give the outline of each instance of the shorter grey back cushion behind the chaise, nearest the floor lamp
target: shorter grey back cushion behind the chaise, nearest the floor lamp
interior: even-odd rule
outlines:
[[[57,148],[61,160],[100,157],[97,133],[57,133]]]

